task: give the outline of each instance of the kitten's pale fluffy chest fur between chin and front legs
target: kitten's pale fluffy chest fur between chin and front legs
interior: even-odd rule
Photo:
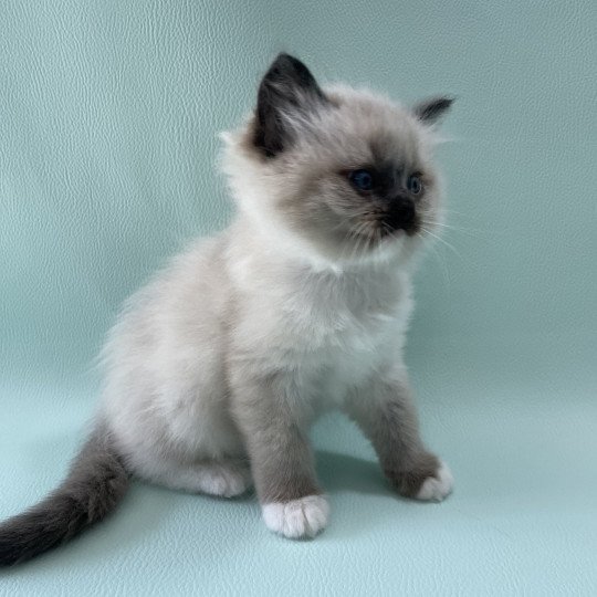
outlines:
[[[253,367],[290,374],[301,399],[337,406],[348,387],[399,358],[411,308],[405,273],[391,265],[266,271],[245,277],[237,347]]]

